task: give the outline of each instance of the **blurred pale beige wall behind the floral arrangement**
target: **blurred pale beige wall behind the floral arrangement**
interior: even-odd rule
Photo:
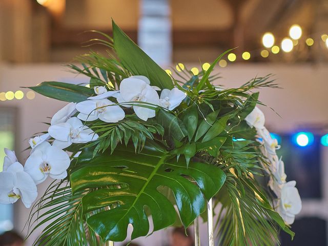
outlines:
[[[188,65],[192,67],[192,65]],[[88,81],[83,77],[75,77],[75,74],[65,71],[59,65],[0,65],[0,92],[16,91],[19,87],[34,86],[42,81],[72,81],[83,83]],[[287,132],[297,130],[300,124],[323,124],[328,122],[327,113],[327,78],[328,66],[310,65],[272,65],[272,64],[247,64],[228,65],[227,68],[217,69],[223,76],[218,82],[227,87],[239,86],[255,76],[264,76],[274,73],[277,82],[284,89],[262,89],[260,100],[275,109],[281,118],[270,108],[261,107],[267,117],[267,126],[271,131]],[[27,92],[27,89],[21,89]],[[36,95],[35,99],[12,101],[0,101],[0,107],[16,107],[19,110],[18,135],[18,158],[24,163],[28,156],[27,152],[22,152],[27,146],[27,139],[34,133],[45,131],[47,122],[60,107],[65,103],[54,99]],[[1,150],[0,150],[1,151]],[[328,159],[328,157],[327,157]],[[327,166],[327,165],[325,165]],[[323,170],[327,173],[327,170]],[[327,180],[324,180],[328,187]],[[39,186],[39,194],[42,194],[45,186]],[[324,200],[328,200],[327,191],[324,191]],[[304,202],[303,214],[314,215],[318,210],[323,210],[324,202]],[[24,208],[19,201],[15,204],[16,228],[23,228],[28,218],[29,211]],[[328,213],[328,212],[327,212]],[[328,218],[328,214],[323,217]],[[203,226],[203,230],[205,230]],[[157,239],[167,237],[167,232],[163,232]],[[206,231],[204,231],[206,233]],[[37,235],[35,235],[37,236]],[[33,239],[33,237],[31,238]],[[156,240],[157,240],[156,239]],[[152,240],[151,238],[149,240]],[[157,243],[158,244],[158,243]],[[31,240],[27,242],[31,245]],[[154,245],[148,243],[148,245]]]

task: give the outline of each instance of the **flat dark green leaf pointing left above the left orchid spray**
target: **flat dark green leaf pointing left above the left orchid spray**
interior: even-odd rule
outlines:
[[[28,88],[41,95],[73,103],[85,101],[92,95],[90,88],[55,81],[43,82]]]

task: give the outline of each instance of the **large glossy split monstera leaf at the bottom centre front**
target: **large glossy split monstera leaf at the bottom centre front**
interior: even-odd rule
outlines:
[[[151,212],[154,231],[171,226],[176,211],[160,192],[163,187],[172,190],[181,221],[188,227],[226,180],[215,166],[191,162],[187,168],[182,158],[177,162],[167,151],[149,143],[138,154],[134,148],[118,147],[112,155],[91,156],[81,156],[77,163],[81,168],[71,174],[70,181],[73,193],[93,189],[82,198],[83,212],[93,212],[87,223],[104,240],[124,240],[129,223],[132,239],[147,235],[146,210]],[[112,189],[113,185],[117,188]],[[99,210],[111,205],[116,207]]]

